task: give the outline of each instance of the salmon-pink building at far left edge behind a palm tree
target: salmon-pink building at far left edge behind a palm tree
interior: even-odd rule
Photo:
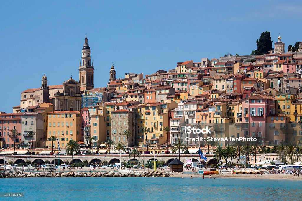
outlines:
[[[21,115],[20,114],[0,114],[0,140],[2,148],[14,148],[14,137],[11,131],[16,129],[18,135],[15,137],[15,146],[21,143]]]

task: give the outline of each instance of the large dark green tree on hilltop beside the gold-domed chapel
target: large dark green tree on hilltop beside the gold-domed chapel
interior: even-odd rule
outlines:
[[[269,31],[262,32],[256,41],[257,49],[253,50],[252,54],[267,54],[271,50],[272,44],[271,33]]]

